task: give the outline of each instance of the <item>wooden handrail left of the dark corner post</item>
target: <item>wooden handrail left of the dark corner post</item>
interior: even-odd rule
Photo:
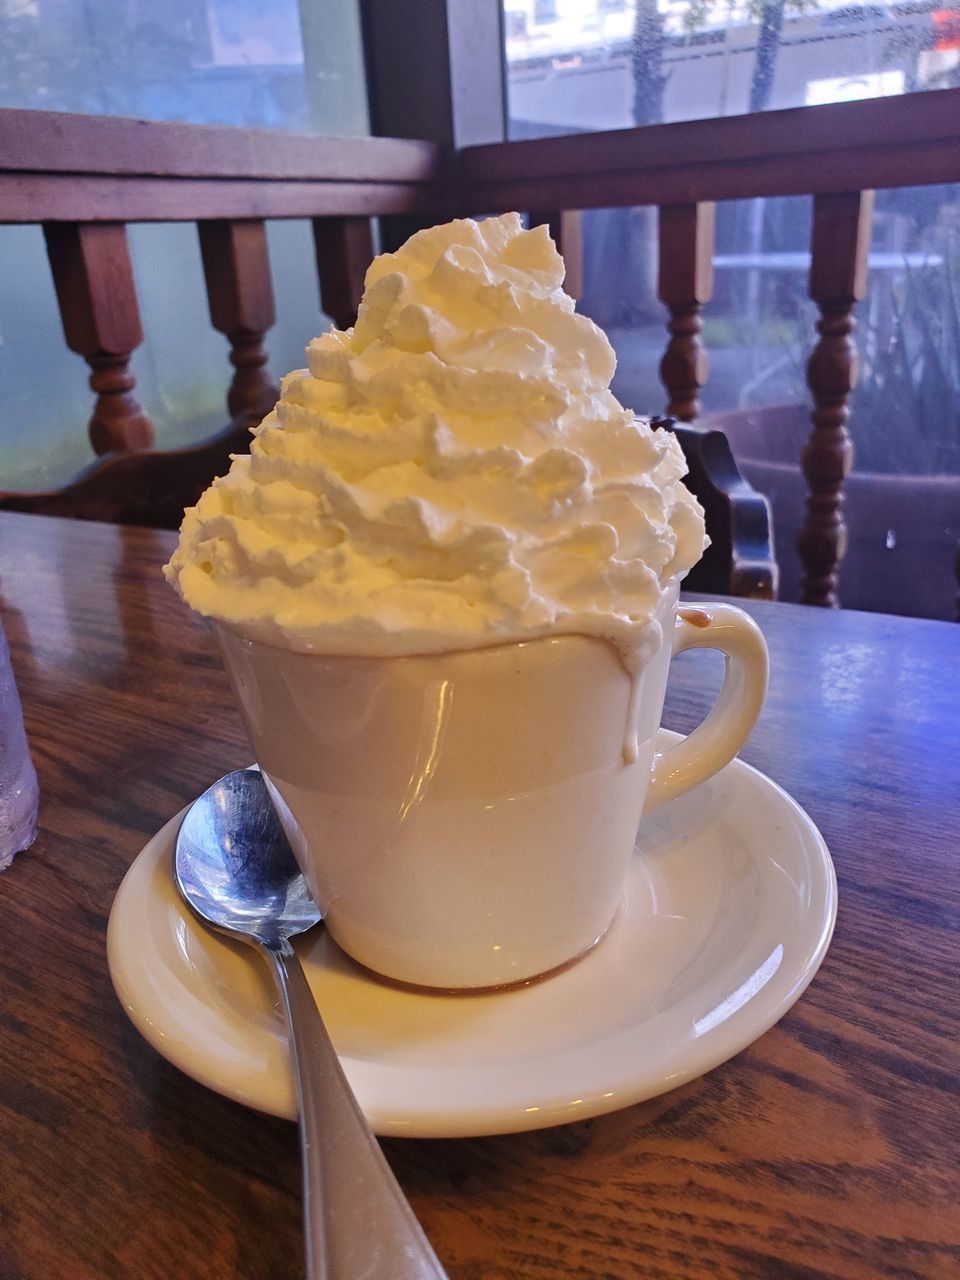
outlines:
[[[407,138],[0,110],[0,223],[453,216],[438,178]]]

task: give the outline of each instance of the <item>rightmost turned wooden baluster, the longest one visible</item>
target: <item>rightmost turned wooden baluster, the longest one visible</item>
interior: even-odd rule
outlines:
[[[840,562],[846,552],[844,480],[854,462],[846,431],[847,398],[858,376],[854,307],[867,292],[873,192],[815,196],[810,297],[820,334],[806,366],[813,431],[803,453],[806,518],[796,539],[804,566],[800,599],[837,608]]]

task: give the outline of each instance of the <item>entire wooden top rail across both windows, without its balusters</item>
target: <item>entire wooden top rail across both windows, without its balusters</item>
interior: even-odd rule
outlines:
[[[960,90],[466,147],[0,110],[0,221],[698,204],[960,178]],[[229,180],[224,180],[229,179]],[[49,220],[49,216],[47,216]]]

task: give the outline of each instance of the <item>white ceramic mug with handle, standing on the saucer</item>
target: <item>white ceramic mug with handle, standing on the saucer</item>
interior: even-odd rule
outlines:
[[[604,934],[641,814],[736,755],[767,687],[763,636],[740,609],[677,612],[673,590],[660,622],[632,703],[617,652],[586,636],[356,658],[219,628],[280,819],[348,955],[401,982],[477,988],[548,973]],[[658,755],[669,659],[691,648],[726,654],[723,686]]]

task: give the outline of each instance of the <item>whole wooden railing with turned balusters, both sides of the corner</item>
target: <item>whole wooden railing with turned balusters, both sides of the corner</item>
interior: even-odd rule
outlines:
[[[851,330],[865,287],[872,191],[956,180],[960,90],[468,147],[443,164],[433,145],[396,138],[0,111],[0,221],[44,225],[65,338],[91,367],[91,442],[106,458],[67,490],[5,494],[0,504],[136,520],[128,495],[113,507],[110,495],[118,477],[123,486],[124,476],[140,475],[151,490],[142,518],[159,518],[159,506],[160,518],[175,524],[184,494],[202,488],[210,467],[224,462],[276,396],[265,347],[274,303],[264,220],[273,218],[312,220],[323,308],[348,325],[372,252],[371,216],[436,221],[527,210],[561,241],[576,292],[576,211],[655,205],[668,326],[666,408],[694,422],[707,378],[700,326],[713,291],[716,201],[812,193],[810,297],[819,338],[808,371],[809,500],[799,548],[804,599],[836,604],[851,458],[847,398],[856,374]],[[154,452],[154,429],[129,371],[142,340],[125,234],[134,220],[197,224],[210,319],[227,337],[234,366],[227,394],[233,426],[177,453]],[[744,527],[759,527],[749,493],[737,492],[731,509]],[[748,543],[735,589],[772,594],[776,570],[767,564],[764,536],[751,534]]]

